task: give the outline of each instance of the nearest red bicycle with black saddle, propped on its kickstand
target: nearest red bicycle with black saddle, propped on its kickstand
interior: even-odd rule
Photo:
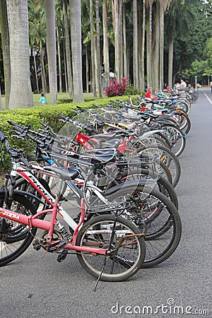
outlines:
[[[6,141],[2,132],[0,132],[0,139],[1,142]],[[8,148],[8,153],[13,153],[13,148]],[[129,204],[126,202],[110,204],[107,206],[110,214],[94,216],[83,224],[86,216],[86,200],[83,197],[81,218],[76,224],[71,216],[67,218],[66,213],[59,210],[59,198],[64,180],[76,179],[79,169],[71,167],[64,172],[63,168],[58,167],[57,175],[60,180],[53,207],[37,213],[27,199],[27,192],[14,192],[19,204],[14,206],[10,204],[10,208],[7,208],[8,192],[0,191],[0,266],[8,264],[23,254],[35,239],[34,249],[42,248],[45,254],[57,253],[58,261],[64,260],[68,254],[72,254],[72,251],[76,252],[83,268],[98,278],[95,289],[100,280],[125,281],[133,276],[141,268],[146,247],[144,232],[142,233],[134,224],[121,216],[129,208]],[[39,218],[48,213],[51,214],[49,221]],[[59,217],[69,228],[73,228],[73,235],[70,235],[70,232],[67,232],[64,225],[59,222]],[[19,235],[13,231],[13,229],[16,230],[17,224],[22,227]],[[43,230],[40,239],[35,238],[37,228]]]

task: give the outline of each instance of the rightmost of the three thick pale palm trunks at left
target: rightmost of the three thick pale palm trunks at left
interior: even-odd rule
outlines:
[[[82,79],[81,1],[70,0],[73,102],[84,102]]]

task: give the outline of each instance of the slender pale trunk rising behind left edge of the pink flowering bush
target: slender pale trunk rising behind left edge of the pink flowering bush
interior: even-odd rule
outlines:
[[[109,86],[110,81],[110,60],[109,60],[109,44],[107,37],[107,4],[106,0],[102,4],[102,23],[103,23],[103,59],[105,68],[105,88]]]

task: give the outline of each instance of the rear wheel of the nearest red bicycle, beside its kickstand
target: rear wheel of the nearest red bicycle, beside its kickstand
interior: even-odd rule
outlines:
[[[110,214],[88,220],[78,233],[76,245],[112,250],[110,256],[102,257],[88,252],[77,254],[83,268],[97,278],[105,264],[102,281],[125,281],[133,276],[141,268],[146,251],[139,229],[129,220]]]

